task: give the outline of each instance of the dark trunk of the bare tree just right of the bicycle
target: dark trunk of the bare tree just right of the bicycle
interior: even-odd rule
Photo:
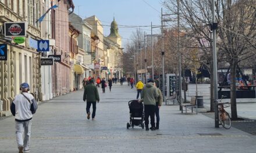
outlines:
[[[236,65],[235,59],[231,62],[230,67],[230,104],[231,104],[231,118],[232,120],[237,119],[237,108],[236,108]]]

